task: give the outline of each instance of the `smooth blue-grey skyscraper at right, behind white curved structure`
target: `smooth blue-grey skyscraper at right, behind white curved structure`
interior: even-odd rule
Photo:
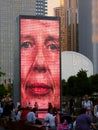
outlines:
[[[87,56],[98,73],[98,1],[79,0],[79,52]]]

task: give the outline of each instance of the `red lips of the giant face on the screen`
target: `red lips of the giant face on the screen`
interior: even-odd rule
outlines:
[[[27,84],[26,90],[32,96],[46,96],[53,91],[53,87],[44,83],[33,83]]]

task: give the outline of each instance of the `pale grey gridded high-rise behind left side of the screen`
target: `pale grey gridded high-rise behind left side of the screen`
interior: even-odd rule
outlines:
[[[0,0],[0,71],[6,73],[0,78],[1,83],[9,79],[13,82],[18,16],[46,14],[47,0]]]

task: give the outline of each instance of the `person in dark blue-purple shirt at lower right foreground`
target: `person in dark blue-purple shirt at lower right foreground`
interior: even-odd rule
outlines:
[[[89,111],[87,108],[82,108],[80,115],[76,118],[75,130],[91,130],[91,127],[94,127],[94,123],[89,116]]]

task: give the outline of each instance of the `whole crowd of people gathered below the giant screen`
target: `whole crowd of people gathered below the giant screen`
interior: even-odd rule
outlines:
[[[75,101],[71,98],[69,105],[70,117],[74,111]],[[25,123],[32,123],[36,125],[43,125],[48,130],[93,130],[97,129],[98,122],[98,100],[96,104],[89,100],[88,95],[84,96],[84,100],[81,102],[80,113],[74,120],[69,122],[66,117],[62,116],[60,111],[52,106],[51,102],[47,103],[47,112],[43,119],[38,117],[38,104],[35,102],[32,108],[30,102],[23,108],[20,103],[14,106],[13,100],[7,96],[0,102],[0,117],[7,117],[11,121],[22,121]],[[68,113],[67,113],[68,114]],[[71,126],[71,127],[70,127]]]

